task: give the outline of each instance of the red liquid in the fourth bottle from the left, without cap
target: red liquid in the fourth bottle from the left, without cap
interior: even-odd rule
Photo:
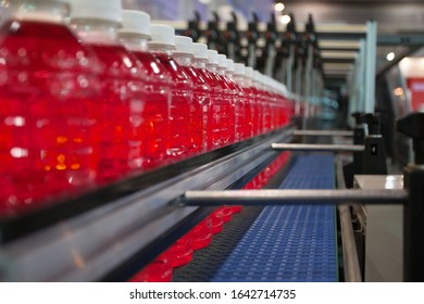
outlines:
[[[180,160],[188,154],[191,144],[189,113],[192,83],[176,61],[166,53],[154,52],[171,76],[172,97],[170,104],[170,131],[167,154]]]

